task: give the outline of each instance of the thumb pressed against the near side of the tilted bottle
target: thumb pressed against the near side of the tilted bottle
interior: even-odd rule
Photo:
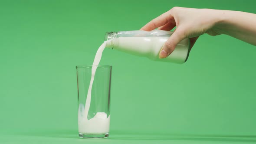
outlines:
[[[180,43],[183,39],[185,39],[185,34],[181,32],[179,29],[175,29],[174,33],[171,37],[164,43],[161,51],[159,52],[159,58],[166,58],[174,51],[175,47],[178,43]]]

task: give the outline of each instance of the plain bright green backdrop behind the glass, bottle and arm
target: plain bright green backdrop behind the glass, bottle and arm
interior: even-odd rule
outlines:
[[[255,5],[255,0],[0,0],[0,143],[210,143],[241,137],[246,140],[240,142],[255,142],[255,46],[205,34],[183,65],[105,49],[100,64],[113,66],[111,134],[102,141],[78,138],[75,70],[92,65],[105,32],[138,30],[172,7],[256,13]],[[183,138],[171,137],[177,135]],[[240,138],[216,139],[223,136]]]

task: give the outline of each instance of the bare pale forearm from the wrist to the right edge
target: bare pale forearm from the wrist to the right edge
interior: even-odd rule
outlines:
[[[222,34],[256,46],[256,14],[222,10],[216,28]]]

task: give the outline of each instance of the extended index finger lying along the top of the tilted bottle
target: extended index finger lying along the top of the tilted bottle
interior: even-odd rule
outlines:
[[[168,11],[166,13],[161,14],[157,18],[151,20],[149,23],[143,26],[140,30],[151,31],[160,26],[164,26],[165,24],[167,24],[168,22],[171,22],[172,20],[174,20],[174,18],[171,15],[171,13]]]

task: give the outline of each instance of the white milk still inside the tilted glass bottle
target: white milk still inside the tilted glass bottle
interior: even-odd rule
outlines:
[[[155,61],[184,63],[188,55],[189,39],[181,41],[167,58],[159,59],[159,52],[167,39],[169,37],[121,36],[114,40],[114,45],[113,42],[107,41],[106,46],[113,46],[113,49],[136,56],[145,56]]]

